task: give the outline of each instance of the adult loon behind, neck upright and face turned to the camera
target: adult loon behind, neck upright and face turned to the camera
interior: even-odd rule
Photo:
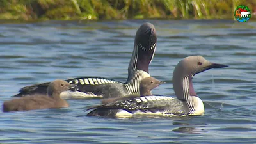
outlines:
[[[63,92],[61,97],[117,97],[129,94],[140,94],[141,79],[150,77],[148,65],[156,51],[156,29],[153,24],[144,23],[136,32],[134,50],[128,67],[128,78],[125,83],[106,79],[104,77],[79,77],[67,79],[71,84],[76,84],[76,92]],[[13,97],[24,97],[35,93],[45,94],[49,83],[35,84],[21,88],[20,93]]]

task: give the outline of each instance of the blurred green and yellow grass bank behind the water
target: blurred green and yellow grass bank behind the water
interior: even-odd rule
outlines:
[[[256,0],[0,0],[0,19],[233,19],[241,4],[256,11]]]

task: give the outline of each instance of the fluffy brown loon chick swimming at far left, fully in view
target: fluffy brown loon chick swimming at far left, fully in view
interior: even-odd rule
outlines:
[[[47,87],[47,95],[29,95],[8,100],[3,103],[3,112],[68,107],[68,102],[60,97],[61,92],[68,90],[76,90],[76,85],[57,79]]]

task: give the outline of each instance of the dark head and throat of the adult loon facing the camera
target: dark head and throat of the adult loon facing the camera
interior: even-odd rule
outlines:
[[[135,37],[135,44],[138,51],[136,69],[148,72],[148,65],[154,57],[156,51],[156,29],[153,24],[148,22],[142,24]]]

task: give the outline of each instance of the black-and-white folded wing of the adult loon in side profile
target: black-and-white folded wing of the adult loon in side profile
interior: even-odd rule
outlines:
[[[130,113],[134,113],[135,111],[150,111],[156,113],[157,111],[160,111],[163,113],[173,113],[174,115],[184,115],[185,113],[188,113],[188,109],[186,109],[184,102],[166,96],[137,97],[134,99],[120,100],[109,104],[93,106],[87,110],[90,109],[123,109]]]

